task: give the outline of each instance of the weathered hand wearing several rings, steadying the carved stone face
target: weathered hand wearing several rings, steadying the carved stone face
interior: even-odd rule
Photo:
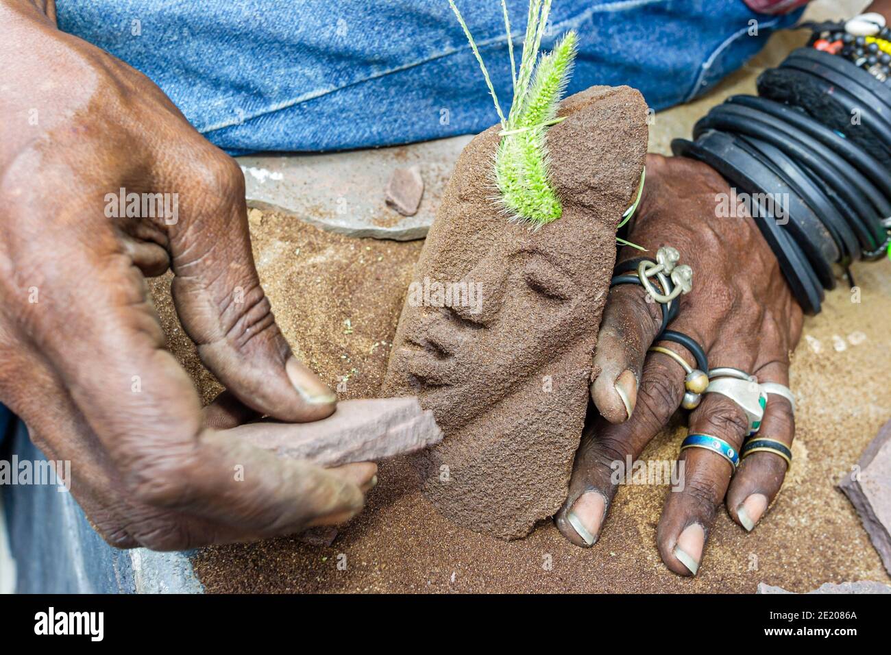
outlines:
[[[680,313],[670,327],[697,340],[710,367],[732,366],[760,382],[788,386],[789,356],[801,337],[802,311],[755,222],[750,217],[715,217],[718,194],[730,192],[705,164],[650,155],[629,240],[650,250],[650,257],[661,246],[674,246],[681,262],[692,267],[693,289],[681,297]],[[625,248],[618,260],[640,254]],[[574,544],[592,545],[586,542],[591,537],[596,541],[604,527],[617,492],[610,464],[625,462],[629,455],[637,458],[681,404],[683,367],[664,354],[647,353],[650,345],[657,345],[653,338],[661,327],[661,311],[645,298],[640,286],[617,286],[604,310],[595,355],[601,374],[591,387],[603,418],[585,431],[567,502],[556,517],[560,532]],[[696,368],[686,348],[668,341],[658,345],[673,349]],[[623,396],[632,410],[630,418]],[[791,405],[782,397],[768,398],[759,436],[791,446]],[[704,395],[689,421],[691,433],[723,438],[737,450],[748,430],[740,407],[718,394]],[[685,465],[685,484],[683,491],[666,495],[657,540],[668,568],[691,575],[702,561],[719,505],[725,503],[741,526],[754,528],[780,490],[786,463],[775,454],[754,453],[731,477],[730,463],[701,448],[684,450],[679,460]],[[588,539],[573,527],[569,512],[590,533]],[[682,554],[679,559],[677,547],[689,557]]]

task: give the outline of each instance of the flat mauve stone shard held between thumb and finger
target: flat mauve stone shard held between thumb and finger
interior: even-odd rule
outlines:
[[[344,400],[322,421],[268,427],[244,430],[244,438],[283,457],[324,467],[413,453],[443,438],[433,413],[421,409],[416,397]]]

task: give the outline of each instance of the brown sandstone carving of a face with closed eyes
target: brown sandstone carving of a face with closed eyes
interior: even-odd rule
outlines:
[[[547,141],[563,215],[540,229],[497,204],[500,127],[462,152],[384,384],[386,395],[419,397],[446,434],[416,457],[438,511],[504,539],[526,536],[566,497],[616,227],[647,148],[647,106],[626,86],[573,95],[559,115]]]

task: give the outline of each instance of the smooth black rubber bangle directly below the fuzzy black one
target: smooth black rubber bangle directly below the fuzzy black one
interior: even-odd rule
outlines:
[[[849,164],[859,170],[862,175],[871,179],[872,184],[882,192],[888,201],[891,201],[891,175],[868,152],[858,148],[838,132],[822,125],[812,119],[804,111],[789,107],[780,102],[773,102],[767,98],[759,98],[756,95],[733,95],[727,99],[730,104],[738,104],[750,107],[758,111],[764,111],[776,119],[780,119],[787,125],[797,127],[806,135],[820,141],[830,151],[838,152]]]

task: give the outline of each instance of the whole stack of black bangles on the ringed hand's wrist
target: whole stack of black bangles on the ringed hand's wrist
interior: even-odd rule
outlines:
[[[817,27],[813,44],[828,40],[827,26]],[[841,51],[799,48],[762,73],[758,96],[733,96],[699,120],[693,141],[672,143],[675,155],[727,179],[737,198],[725,207],[747,194],[748,213],[807,314],[835,287],[833,264],[853,286],[851,262],[881,258],[891,242],[891,86]]]

